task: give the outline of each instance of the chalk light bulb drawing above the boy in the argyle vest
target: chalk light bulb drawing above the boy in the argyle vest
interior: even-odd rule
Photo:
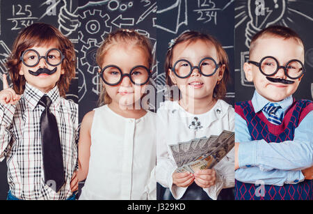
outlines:
[[[253,35],[266,26],[279,22],[286,10],[286,0],[248,0],[250,21],[246,26],[246,47],[250,47]]]

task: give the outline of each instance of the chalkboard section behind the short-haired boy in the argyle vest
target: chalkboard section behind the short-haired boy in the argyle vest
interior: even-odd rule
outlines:
[[[260,1],[260,0],[259,0]],[[259,2],[258,1],[258,2]],[[250,40],[257,31],[271,24],[288,26],[296,31],[305,45],[306,73],[294,97],[312,100],[313,98],[313,1],[312,0],[266,0],[264,15],[257,8],[255,15],[255,0],[235,1],[235,85],[236,102],[251,100],[255,91],[252,82],[247,82],[243,73],[243,63],[248,61]],[[248,11],[251,11],[250,13]]]

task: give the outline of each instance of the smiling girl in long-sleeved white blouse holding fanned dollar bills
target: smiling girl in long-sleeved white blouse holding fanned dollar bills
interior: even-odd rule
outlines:
[[[163,195],[171,196],[162,199],[233,199],[231,190],[223,190],[234,187],[233,149],[212,169],[188,165],[201,155],[202,137],[209,141],[234,130],[234,109],[221,100],[229,76],[225,50],[212,36],[187,31],[169,43],[165,70],[170,100],[157,111],[156,175],[166,188]],[[177,169],[177,159],[183,168]],[[218,197],[221,190],[230,194]]]

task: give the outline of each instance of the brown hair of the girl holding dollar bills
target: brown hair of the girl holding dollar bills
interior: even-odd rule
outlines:
[[[165,61],[165,72],[166,72],[166,83],[168,86],[172,86],[172,80],[170,79],[170,73],[169,70],[172,67],[172,52],[175,46],[179,43],[184,43],[188,41],[188,44],[195,42],[196,40],[203,40],[211,42],[214,47],[216,48],[216,53],[218,56],[218,60],[220,61],[219,65],[225,65],[225,71],[223,75],[223,79],[220,80],[219,84],[216,84],[213,91],[213,96],[216,99],[223,99],[225,97],[226,93],[226,84],[227,81],[230,78],[230,70],[229,70],[229,61],[228,56],[225,52],[225,49],[223,49],[222,45],[214,38],[213,36],[206,34],[206,33],[200,33],[198,31],[187,31],[185,33],[182,33],[178,38],[176,38],[174,41],[171,41],[170,48],[168,49],[168,52],[166,53],[166,61]],[[172,93],[170,94],[170,100],[173,100]]]

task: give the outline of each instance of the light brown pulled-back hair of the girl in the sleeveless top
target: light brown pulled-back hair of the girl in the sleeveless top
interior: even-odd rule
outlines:
[[[97,49],[97,64],[101,69],[102,63],[104,61],[104,56],[106,52],[113,46],[118,43],[128,43],[129,45],[136,45],[141,47],[147,53],[147,61],[149,64],[149,68],[152,66],[152,47],[150,41],[143,35],[137,33],[134,30],[130,29],[118,29],[113,33],[109,33],[109,35],[104,39],[102,45]],[[106,93],[104,88],[104,83],[101,83],[102,89],[99,94],[98,105],[109,104],[112,102],[109,95]]]

